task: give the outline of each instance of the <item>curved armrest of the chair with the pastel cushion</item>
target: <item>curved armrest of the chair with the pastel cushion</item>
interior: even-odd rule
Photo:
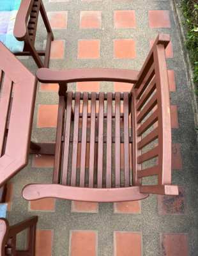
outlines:
[[[19,41],[24,41],[27,34],[27,21],[31,8],[33,6],[33,0],[22,0],[20,3],[19,11],[15,20],[15,27],[13,34]]]

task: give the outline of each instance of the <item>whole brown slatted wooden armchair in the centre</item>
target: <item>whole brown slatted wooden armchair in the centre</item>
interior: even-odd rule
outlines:
[[[149,193],[178,195],[178,186],[171,185],[168,44],[169,36],[159,35],[140,72],[38,70],[42,83],[59,83],[56,144],[37,145],[38,154],[52,154],[55,148],[54,177],[53,184],[27,185],[24,198],[119,202],[140,200]],[[67,84],[78,81],[117,81],[133,88],[124,93],[67,92]],[[142,182],[153,175],[156,180]]]

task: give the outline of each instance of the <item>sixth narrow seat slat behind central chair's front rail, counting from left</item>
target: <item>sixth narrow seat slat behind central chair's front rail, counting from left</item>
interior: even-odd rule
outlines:
[[[112,169],[112,93],[107,93],[107,177],[106,187],[111,188]]]

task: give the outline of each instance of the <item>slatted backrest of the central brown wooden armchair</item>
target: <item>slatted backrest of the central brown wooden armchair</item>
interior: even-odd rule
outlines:
[[[142,185],[144,193],[165,191],[171,184],[171,111],[165,61],[168,35],[159,35],[132,89],[133,184],[158,175],[153,186]]]

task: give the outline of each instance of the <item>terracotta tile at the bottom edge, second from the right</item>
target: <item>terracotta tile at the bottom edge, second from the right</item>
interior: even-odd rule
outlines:
[[[141,256],[142,236],[135,232],[114,232],[114,256]]]

